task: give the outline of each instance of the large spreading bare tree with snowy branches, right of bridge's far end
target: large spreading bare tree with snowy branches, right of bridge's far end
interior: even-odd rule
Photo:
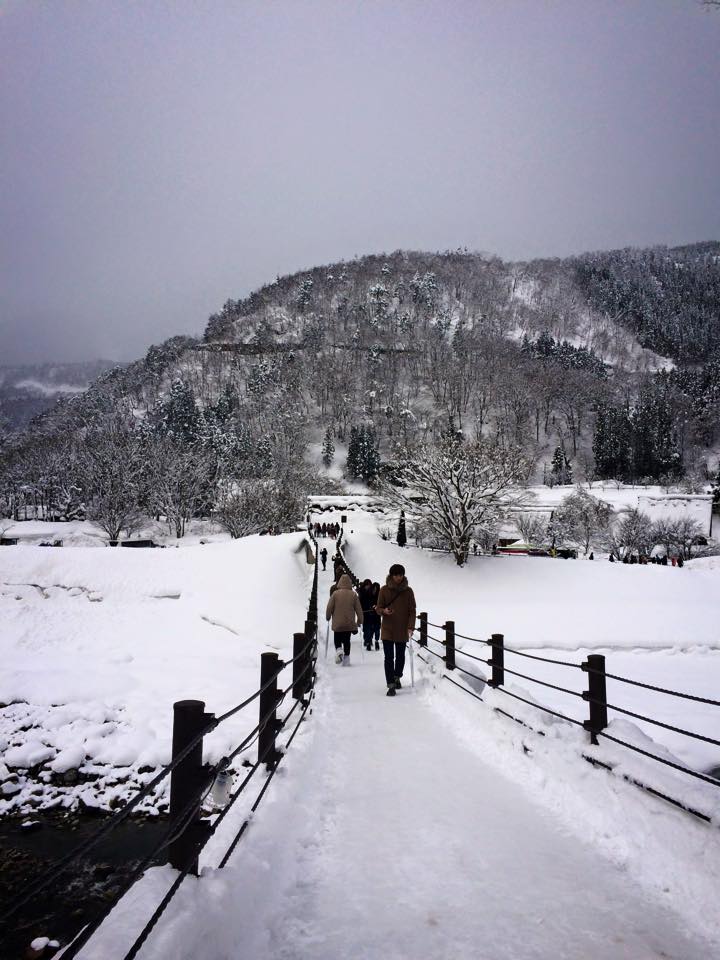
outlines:
[[[521,499],[527,462],[516,447],[444,438],[404,455],[382,493],[465,563],[477,531],[495,526]]]

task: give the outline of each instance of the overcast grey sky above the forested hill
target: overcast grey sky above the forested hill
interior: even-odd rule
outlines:
[[[356,254],[720,239],[719,170],[696,0],[0,0],[0,363]]]

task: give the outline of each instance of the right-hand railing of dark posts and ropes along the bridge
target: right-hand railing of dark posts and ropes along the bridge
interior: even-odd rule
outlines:
[[[493,690],[496,690],[499,693],[505,694],[508,697],[511,697],[515,700],[518,700],[522,703],[527,704],[535,710],[541,711],[542,713],[548,714],[562,720],[574,726],[581,727],[590,734],[591,743],[597,745],[598,737],[602,736],[607,740],[611,740],[620,746],[627,747],[629,750],[632,750],[638,754],[648,757],[649,759],[655,760],[658,763],[664,764],[665,766],[671,767],[681,773],[684,773],[690,777],[693,777],[696,780],[701,780],[705,783],[709,783],[715,787],[720,787],[720,780],[715,777],[709,776],[707,774],[701,773],[697,770],[692,770],[689,767],[684,766],[681,763],[675,763],[674,761],[668,760],[664,757],[658,756],[656,753],[653,753],[648,750],[643,750],[640,747],[636,747],[632,743],[628,743],[626,740],[622,740],[618,737],[614,737],[610,733],[606,732],[606,727],[608,725],[608,711],[615,711],[618,714],[623,716],[632,717],[635,720],[641,722],[653,724],[657,727],[660,727],[665,730],[669,730],[673,733],[676,733],[681,736],[689,737],[694,740],[699,740],[704,743],[712,744],[713,746],[720,746],[720,740],[717,740],[711,736],[705,734],[697,733],[692,730],[686,730],[682,727],[675,726],[671,723],[666,723],[662,720],[656,720],[653,717],[646,716],[642,713],[638,713],[633,710],[629,710],[626,707],[619,706],[615,703],[608,702],[607,693],[606,693],[606,679],[612,679],[619,682],[624,682],[631,684],[633,686],[642,687],[643,689],[651,690],[660,694],[667,694],[669,696],[681,697],[690,701],[703,703],[706,705],[720,705],[720,701],[713,700],[708,697],[701,697],[695,694],[689,694],[680,692],[677,690],[670,690],[663,687],[658,687],[653,684],[643,683],[638,680],[632,680],[628,677],[622,677],[617,674],[608,673],[605,670],[605,657],[599,654],[590,654],[587,660],[583,663],[574,663],[569,660],[560,660],[552,657],[543,657],[537,654],[526,653],[522,650],[517,650],[512,647],[505,645],[505,638],[502,634],[493,634],[491,638],[487,640],[481,640],[478,637],[467,636],[465,634],[458,633],[455,630],[454,621],[447,621],[445,624],[437,624],[427,619],[426,613],[421,613],[418,616],[420,621],[420,638],[415,642],[422,648],[423,653],[430,654],[431,656],[436,657],[439,660],[444,661],[445,672],[443,673],[443,678],[449,680],[454,686],[458,687],[460,690],[463,690],[465,693],[470,694],[472,697],[478,700],[482,700],[480,693],[475,690],[470,690],[464,683],[459,683],[457,680],[454,680],[450,676],[451,671],[459,671],[461,674],[470,677],[480,683],[486,683]],[[428,627],[434,627],[445,632],[445,638],[442,639],[434,634],[428,632]],[[489,646],[492,650],[492,657],[489,660],[485,660],[482,657],[478,657],[475,654],[472,654],[463,649],[457,649],[455,643],[456,639],[461,638],[463,640],[468,640],[475,643],[484,643]],[[445,654],[439,654],[433,650],[432,646],[429,645],[428,641],[433,641],[433,643],[440,644],[445,649]],[[582,692],[577,690],[572,690],[568,687],[561,686],[559,684],[551,683],[547,680],[542,680],[539,677],[534,677],[530,674],[521,673],[516,670],[512,670],[505,666],[505,653],[515,654],[516,656],[526,657],[530,660],[538,660],[543,663],[549,663],[552,665],[562,666],[562,667],[572,667],[574,669],[580,670],[583,673],[588,675],[588,689]],[[458,666],[455,663],[456,656],[467,657],[468,659],[475,660],[480,663],[486,664],[491,668],[491,676],[485,677],[480,676],[476,673],[466,670],[463,667]],[[424,662],[429,664],[429,660],[421,658]],[[530,683],[538,684],[539,686],[556,690],[559,693],[562,693],[566,696],[572,696],[577,699],[581,699],[588,704],[589,707],[589,719],[587,720],[578,720],[575,717],[567,716],[565,713],[562,713],[558,710],[553,710],[550,707],[545,706],[544,704],[537,703],[532,699],[521,696],[520,693],[515,691],[508,690],[505,687],[505,674],[509,674],[513,677],[518,677],[522,680],[526,680]],[[498,712],[503,713],[509,716],[511,719],[522,723],[525,726],[523,720],[519,720],[517,717],[514,717],[512,714],[506,714],[505,711],[497,708]],[[534,729],[529,727],[529,729]],[[537,731],[541,733],[542,731]],[[586,757],[586,759],[591,759]],[[612,769],[612,768],[611,768]],[[622,774],[622,776],[628,780],[628,782],[633,783],[635,786],[642,787],[644,790],[661,797],[662,799],[668,800],[670,803],[675,806],[682,807],[684,810],[688,810],[690,813],[693,813],[699,817],[702,817],[705,820],[709,818],[702,813],[692,809],[691,807],[686,806],[684,803],[676,800],[673,797],[668,796],[665,793],[658,791],[657,789],[640,782],[639,780],[628,777],[627,774]]]

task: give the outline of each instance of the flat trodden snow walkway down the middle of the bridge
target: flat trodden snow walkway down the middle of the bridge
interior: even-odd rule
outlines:
[[[300,839],[268,957],[708,956],[664,906],[455,743],[421,695],[384,697],[381,657],[360,662],[356,650],[349,669],[321,661],[312,751],[326,766],[302,798],[317,811],[316,839]]]

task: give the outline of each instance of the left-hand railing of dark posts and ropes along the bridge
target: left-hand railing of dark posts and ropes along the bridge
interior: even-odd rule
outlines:
[[[165,764],[148,783],[127,801],[121,810],[113,814],[91,837],[56,861],[53,867],[39,880],[29,884],[22,890],[5,910],[2,917],[0,917],[0,923],[7,923],[28,902],[35,900],[39,894],[43,893],[49,887],[54,886],[71,864],[89,853],[97,844],[104,840],[130,816],[138,804],[148,797],[155,787],[169,775],[172,775],[170,787],[170,823],[167,831],[165,831],[162,839],[153,849],[141,859],[136,869],[132,871],[131,875],[121,885],[110,901],[103,906],[99,914],[86,924],[63,954],[68,960],[76,956],[79,950],[82,949],[107,918],[117,902],[127,893],[133,884],[137,882],[148,866],[156,862],[164,850],[169,849],[170,863],[179,870],[178,877],[153,914],[151,921],[146,925],[146,928],[127,954],[126,960],[131,960],[142,947],[142,943],[152,927],[157,923],[157,920],[175,895],[175,892],[179,889],[185,876],[189,873],[197,872],[198,856],[202,849],[204,849],[209,838],[215,833],[217,827],[223,821],[227,814],[227,809],[232,806],[232,803],[234,803],[245,790],[254,773],[263,763],[266,763],[269,776],[253,805],[252,810],[254,811],[256,809],[267,789],[267,785],[274,776],[278,764],[284,756],[283,752],[276,749],[277,735],[285,727],[295,710],[302,706],[303,709],[300,718],[286,744],[285,749],[287,749],[295,737],[300,723],[305,718],[313,698],[315,664],[317,661],[318,550],[314,538],[311,537],[311,539],[315,546],[313,583],[308,603],[305,629],[302,633],[294,634],[292,659],[283,662],[278,659],[275,653],[263,654],[261,657],[261,680],[259,688],[241,703],[223,713],[220,717],[216,718],[212,714],[206,714],[204,712],[205,705],[200,701],[179,701],[176,703],[174,707],[173,756],[170,762]],[[292,668],[292,682],[284,689],[278,690],[277,679],[283,670],[288,667]],[[295,699],[295,704],[282,720],[277,720],[277,709],[291,691]],[[253,730],[242,739],[237,747],[226,756],[223,756],[214,765],[203,766],[202,744],[204,737],[217,729],[221,723],[244,710],[255,700],[260,701],[260,716]],[[221,811],[215,823],[210,826],[203,824],[200,819],[200,810],[218,774],[225,771],[240,753],[249,749],[256,741],[259,741],[258,759],[252,766],[250,773],[243,779],[240,787],[231,795],[231,802],[229,802],[228,807]],[[199,840],[198,834],[202,834]],[[221,866],[224,866],[224,862],[226,861],[223,861]]]

